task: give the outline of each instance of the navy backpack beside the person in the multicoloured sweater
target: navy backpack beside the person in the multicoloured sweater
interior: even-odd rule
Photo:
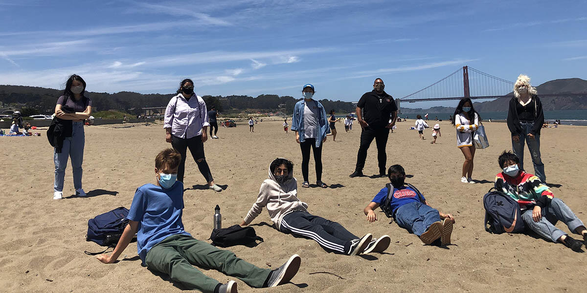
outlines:
[[[491,188],[483,196],[485,231],[493,234],[520,233],[526,229],[519,204],[511,196]],[[489,226],[487,226],[489,224]]]

